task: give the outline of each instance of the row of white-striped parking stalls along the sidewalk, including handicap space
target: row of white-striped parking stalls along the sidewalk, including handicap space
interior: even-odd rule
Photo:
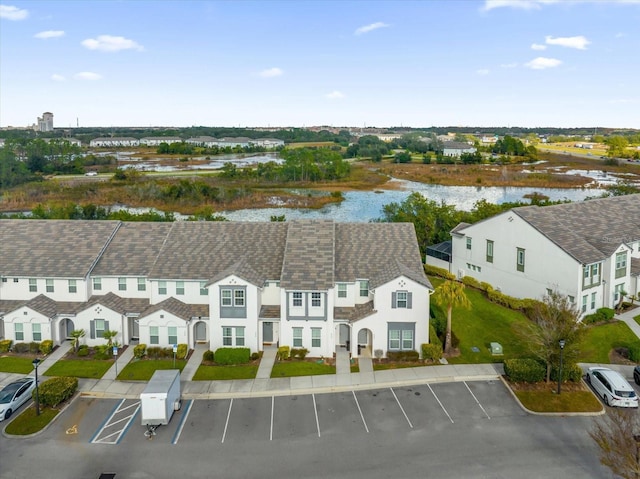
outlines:
[[[526,415],[500,381],[246,399],[183,401],[167,426],[145,439],[140,402],[76,400],[50,428],[67,441],[127,446],[150,440],[166,444],[216,441],[350,437],[446,428],[455,424]]]

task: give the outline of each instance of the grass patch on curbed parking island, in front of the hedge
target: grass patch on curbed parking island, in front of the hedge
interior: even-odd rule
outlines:
[[[598,412],[602,404],[591,391],[516,391],[524,407],[535,412]]]

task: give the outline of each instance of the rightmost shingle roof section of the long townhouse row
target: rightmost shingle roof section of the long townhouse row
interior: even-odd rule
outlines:
[[[336,281],[368,279],[372,288],[400,275],[433,289],[412,223],[337,223]]]

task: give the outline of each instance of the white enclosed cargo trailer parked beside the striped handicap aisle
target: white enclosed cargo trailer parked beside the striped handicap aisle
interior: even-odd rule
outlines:
[[[142,425],[147,436],[158,426],[167,425],[174,411],[180,409],[180,370],[158,370],[140,394]]]

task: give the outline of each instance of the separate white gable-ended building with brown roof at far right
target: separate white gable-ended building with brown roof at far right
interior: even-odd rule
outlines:
[[[640,194],[553,206],[525,206],[451,231],[426,261],[518,298],[556,290],[582,314],[640,294]]]

